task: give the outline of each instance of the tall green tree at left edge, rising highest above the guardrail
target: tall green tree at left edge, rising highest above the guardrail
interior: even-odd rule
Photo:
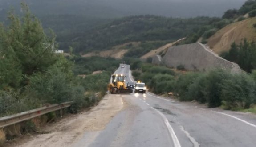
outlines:
[[[24,3],[24,16],[20,19],[9,13],[9,25],[0,25],[0,81],[4,86],[18,86],[23,75],[45,71],[56,60],[54,38],[45,35],[39,20]],[[23,78],[26,85],[26,79]],[[1,83],[2,87],[3,84]]]

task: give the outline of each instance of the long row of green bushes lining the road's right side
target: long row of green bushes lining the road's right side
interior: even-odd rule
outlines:
[[[226,70],[174,71],[165,66],[138,62],[132,75],[156,94],[172,92],[180,101],[198,101],[208,107],[253,112],[256,104],[256,71],[252,74]],[[247,110],[244,110],[247,111]]]

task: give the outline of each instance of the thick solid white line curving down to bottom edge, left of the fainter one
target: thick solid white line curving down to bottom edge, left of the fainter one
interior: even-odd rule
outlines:
[[[163,115],[163,113],[161,113],[160,111],[158,111],[157,109],[154,108],[155,111],[157,111],[160,116],[162,116],[165,125],[167,126],[167,129],[169,131],[169,133],[171,134],[171,138],[174,144],[174,147],[181,147],[180,143],[179,143],[179,139],[177,138],[173,128],[171,127],[171,124],[169,123],[169,121],[167,120],[167,118]]]

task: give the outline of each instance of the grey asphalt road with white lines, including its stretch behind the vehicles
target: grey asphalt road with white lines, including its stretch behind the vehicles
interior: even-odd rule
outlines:
[[[130,66],[119,67],[134,81]],[[256,147],[256,115],[204,108],[146,94],[120,94],[129,103],[97,132],[85,132],[74,147]]]

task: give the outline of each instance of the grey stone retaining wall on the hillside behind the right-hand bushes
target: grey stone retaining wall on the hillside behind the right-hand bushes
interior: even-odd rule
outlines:
[[[153,63],[171,68],[184,66],[186,70],[207,71],[216,68],[240,72],[240,67],[233,62],[229,62],[209,50],[201,43],[193,43],[181,46],[172,46],[168,49],[161,61],[156,56]]]

